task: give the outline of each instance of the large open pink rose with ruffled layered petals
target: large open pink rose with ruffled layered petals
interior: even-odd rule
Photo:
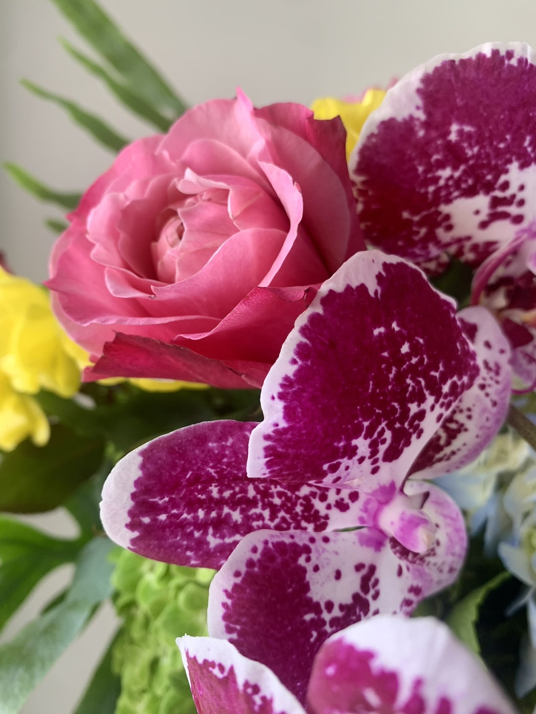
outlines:
[[[51,256],[88,377],[260,386],[320,283],[364,248],[344,141],[338,118],[239,93],[121,151]]]

